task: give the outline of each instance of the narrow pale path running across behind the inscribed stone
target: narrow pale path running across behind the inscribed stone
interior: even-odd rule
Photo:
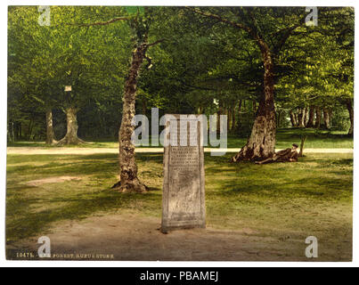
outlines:
[[[227,153],[239,152],[241,149],[208,149],[205,148],[205,152],[210,151],[225,151]],[[281,151],[281,150],[276,150]],[[137,153],[161,153],[161,148],[137,148]],[[353,149],[306,149],[306,153],[353,153]],[[76,154],[76,155],[91,155],[101,153],[118,153],[118,149],[114,148],[34,148],[34,147],[8,147],[7,154]]]

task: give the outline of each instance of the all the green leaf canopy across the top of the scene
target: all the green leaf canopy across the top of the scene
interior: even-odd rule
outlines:
[[[347,128],[343,105],[354,94],[352,8],[321,7],[318,27],[304,25],[302,7],[199,9],[249,28],[256,24],[273,53],[279,126],[287,126],[287,110],[320,106],[332,110],[336,128]],[[83,137],[114,137],[131,53],[143,41],[161,44],[149,48],[143,64],[138,113],[151,107],[161,114],[234,108],[237,134],[249,134],[264,68],[247,32],[183,7],[51,6],[49,27],[38,25],[38,16],[36,6],[9,7],[8,125],[20,137],[43,137],[45,110],[68,106],[79,109]],[[121,17],[126,20],[109,23]],[[281,45],[295,23],[300,25]],[[65,93],[65,85],[72,91]],[[63,117],[54,114],[61,123]],[[29,128],[31,118],[35,125]]]

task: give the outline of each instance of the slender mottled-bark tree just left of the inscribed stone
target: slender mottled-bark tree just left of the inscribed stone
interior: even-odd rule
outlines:
[[[131,12],[127,9],[126,17],[117,17],[111,20],[99,21],[82,26],[106,26],[118,21],[126,21],[133,30],[134,50],[130,68],[126,76],[125,89],[123,94],[122,121],[118,132],[119,143],[119,182],[112,186],[112,189],[121,192],[145,192],[148,187],[138,178],[138,167],[135,161],[135,145],[132,142],[132,134],[135,126],[132,122],[135,118],[135,100],[137,91],[137,81],[140,71],[143,67],[143,61],[148,61],[148,68],[151,67],[151,58],[147,56],[147,50],[158,45],[162,40],[149,43],[149,22],[150,8],[137,8],[137,11]]]

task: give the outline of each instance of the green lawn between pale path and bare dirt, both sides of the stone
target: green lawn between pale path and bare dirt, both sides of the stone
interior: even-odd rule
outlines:
[[[298,163],[264,166],[230,164],[230,157],[205,158],[208,227],[246,228],[257,237],[278,240],[314,235],[322,251],[335,248],[350,255],[352,154],[310,154]],[[137,160],[141,179],[151,187],[145,194],[110,190],[117,182],[117,155],[8,155],[7,244],[99,213],[130,210],[159,218],[162,155],[142,154]],[[80,180],[29,183],[64,175]]]

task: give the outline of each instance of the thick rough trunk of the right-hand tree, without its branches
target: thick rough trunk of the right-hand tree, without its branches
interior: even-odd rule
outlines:
[[[233,162],[268,159],[275,152],[274,65],[269,47],[263,42],[260,47],[265,66],[264,95],[259,102],[249,140],[241,151],[233,157]]]

